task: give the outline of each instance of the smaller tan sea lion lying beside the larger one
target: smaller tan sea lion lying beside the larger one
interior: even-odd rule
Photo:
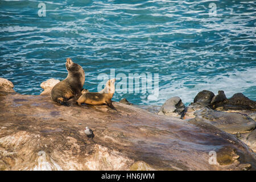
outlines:
[[[112,97],[115,92],[115,79],[111,79],[107,81],[104,92],[88,92],[82,94],[77,100],[77,104],[81,106],[81,104],[89,104],[89,105],[108,105],[111,109],[115,109],[112,105]]]

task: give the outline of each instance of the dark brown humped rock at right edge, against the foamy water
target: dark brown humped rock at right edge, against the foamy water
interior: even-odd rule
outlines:
[[[224,109],[253,110],[256,109],[256,101],[250,100],[248,97],[245,97],[242,93],[236,93],[227,100],[227,102],[224,105]]]

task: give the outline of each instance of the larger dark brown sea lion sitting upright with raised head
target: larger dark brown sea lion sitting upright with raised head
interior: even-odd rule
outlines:
[[[81,96],[82,86],[84,86],[85,73],[79,64],[67,58],[66,68],[68,76],[64,80],[53,86],[51,99],[64,106],[69,106],[67,101],[71,97],[79,98]]]

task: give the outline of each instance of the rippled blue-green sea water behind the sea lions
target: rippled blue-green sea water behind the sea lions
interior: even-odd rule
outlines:
[[[188,104],[203,89],[256,100],[255,1],[44,1],[39,17],[40,2],[0,1],[0,77],[16,92],[40,94],[41,82],[64,79],[71,57],[92,92],[110,68],[159,74],[159,97],[115,93],[114,101]]]

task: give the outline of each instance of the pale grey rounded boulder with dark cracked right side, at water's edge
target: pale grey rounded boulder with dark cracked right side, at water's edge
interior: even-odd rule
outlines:
[[[173,115],[178,116],[185,110],[185,105],[182,103],[180,97],[171,97],[159,110],[159,115]]]

